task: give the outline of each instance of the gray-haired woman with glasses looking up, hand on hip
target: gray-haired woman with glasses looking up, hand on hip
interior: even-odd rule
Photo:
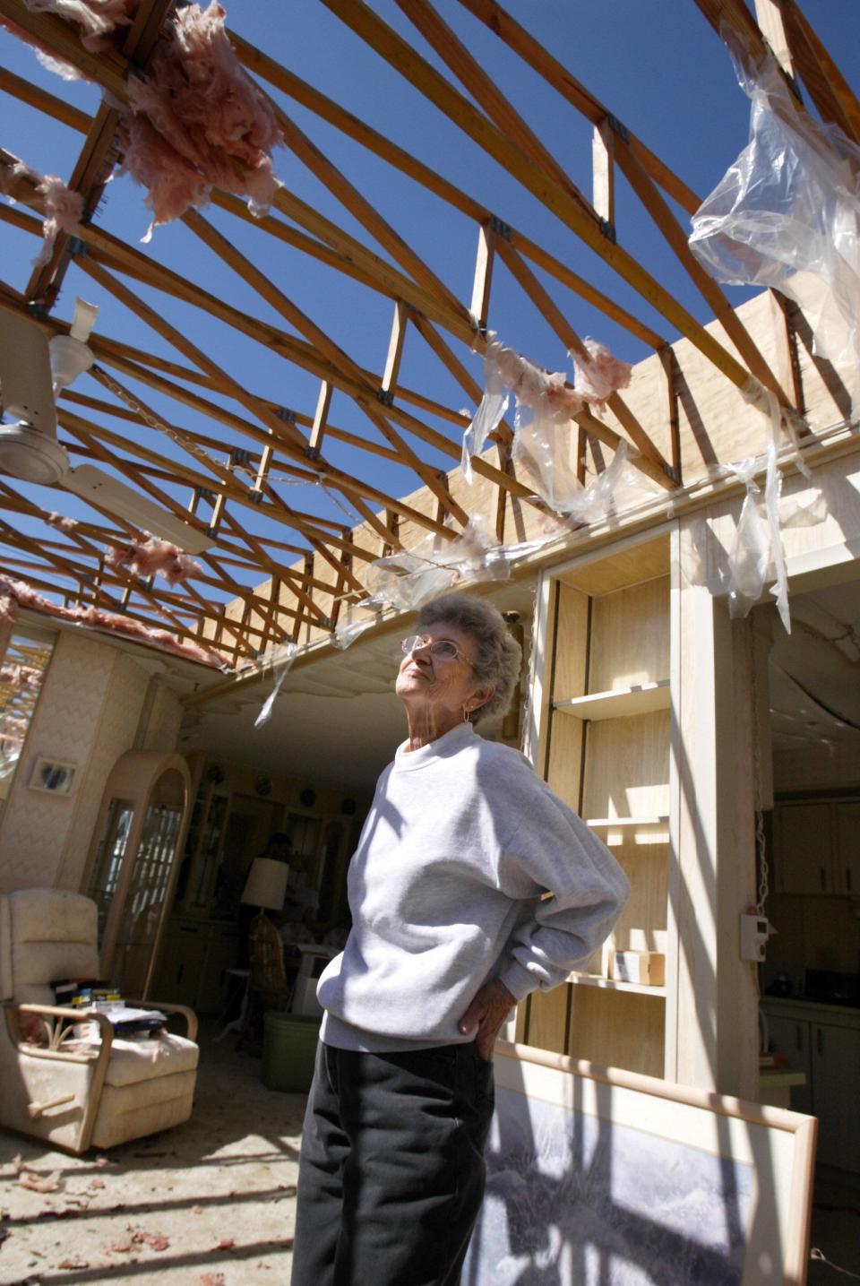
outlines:
[[[318,989],[292,1286],[455,1286],[483,1195],[496,1034],[591,955],[627,896],[576,813],[474,730],[519,675],[499,612],[437,598],[402,651],[409,736],[377,784],[352,930]]]

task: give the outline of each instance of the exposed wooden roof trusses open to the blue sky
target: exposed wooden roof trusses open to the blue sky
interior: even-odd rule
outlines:
[[[693,213],[701,203],[697,193],[495,0],[459,3],[530,64],[558,93],[560,102],[590,123],[590,195],[573,185],[429,0],[397,0],[397,4],[449,76],[388,27],[373,6],[356,0],[323,0],[409,81],[414,93],[433,103],[470,144],[494,158],[632,287],[662,316],[666,333],[686,336],[738,388],[744,388],[755,377],[783,405],[792,405],[794,390],[780,387],[725,294],[688,248],[686,231],[672,204]],[[857,102],[794,0],[757,0],[760,26],[743,0],[693,3],[715,28],[728,22],[753,49],[764,50],[767,39],[779,53],[787,75],[802,77],[819,113],[860,141]],[[305,166],[337,199],[350,224],[364,230],[366,240],[346,231],[287,186],[278,190],[271,212],[262,219],[253,219],[235,197],[215,192],[212,201],[220,211],[256,229],[258,252],[240,251],[199,211],[189,211],[184,224],[188,233],[207,247],[212,262],[228,279],[252,287],[261,303],[261,315],[255,315],[231,303],[224,292],[207,289],[199,280],[181,275],[111,234],[100,226],[98,212],[104,184],[122,159],[117,147],[121,108],[109,104],[127,102],[127,76],[145,68],[170,8],[170,0],[143,0],[121,49],[93,54],[80,44],[75,28],[57,15],[31,12],[24,0],[0,0],[3,15],[73,63],[109,95],[90,118],[59,95],[0,68],[0,90],[84,136],[68,183],[81,193],[85,210],[73,235],[58,235],[50,258],[32,271],[23,291],[0,284],[0,307],[27,310],[40,319],[49,334],[66,332],[68,325],[57,316],[55,307],[69,264],[75,261],[91,280],[94,297],[112,297],[152,332],[158,350],[154,352],[132,347],[121,336],[111,336],[96,327],[90,340],[96,365],[89,377],[66,391],[59,403],[62,440],[76,459],[116,469],[166,509],[208,529],[212,544],[199,558],[201,574],[185,585],[170,589],[161,581],[141,581],[104,561],[105,547],[126,540],[132,534],[130,527],[94,509],[94,521],[82,521],[75,531],[49,531],[44,539],[35,539],[17,523],[21,518],[32,523],[42,517],[42,511],[13,481],[3,480],[0,567],[44,593],[59,595],[67,606],[105,606],[134,620],[167,626],[179,638],[213,639],[228,664],[239,665],[284,640],[301,639],[302,631],[309,629],[330,630],[341,603],[361,597],[366,565],[400,549],[405,529],[414,543],[415,534],[422,532],[452,538],[468,522],[469,514],[451,494],[446,477],[446,471],[460,459],[460,439],[468,415],[447,400],[440,400],[432,390],[409,387],[401,381],[400,370],[406,345],[426,345],[463,396],[472,404],[479,401],[481,387],[464,359],[469,350],[481,352],[486,345],[496,265],[510,274],[523,298],[573,352],[585,351],[582,338],[545,282],[578,296],[659,354],[666,372],[667,415],[674,397],[674,367],[666,334],[505,221],[504,210],[486,208],[441,172],[364,123],[348,107],[338,104],[238,35],[233,35],[233,41],[239,59],[264,90],[275,95],[278,123],[294,163]],[[373,199],[359,190],[298,126],[280,105],[284,102],[300,104],[342,131],[473,224],[477,253],[469,300],[455,297],[419,249],[391,226]],[[23,153],[22,159],[27,162],[26,145],[15,145],[14,139],[0,139],[0,143],[9,148],[0,150],[0,176],[17,202],[0,206],[0,219],[39,238],[42,202],[36,181],[26,174],[12,177],[14,156]],[[737,355],[706,331],[671,289],[625,248],[625,229],[617,225],[614,210],[617,172],[627,180],[712,315],[722,323]],[[276,271],[269,266],[271,251],[278,244],[391,301],[390,341],[375,369],[354,360],[291,298],[284,284],[278,282]],[[382,253],[373,249],[373,244]],[[161,301],[159,307],[148,302],[153,294]],[[201,310],[310,374],[316,382],[315,399],[307,405],[280,406],[247,387],[239,372],[233,369],[229,349],[204,350],[188,329],[170,320],[171,301]],[[273,314],[283,325],[266,320]],[[159,355],[165,350],[171,354],[168,359]],[[368,427],[366,436],[337,423],[334,395],[348,399],[359,409]],[[165,406],[171,408],[170,414],[165,413]],[[683,480],[676,435],[666,437],[672,444],[667,458],[621,394],[613,395],[609,410],[618,428],[589,412],[576,417],[578,454],[584,455],[589,444],[599,454],[600,444],[613,449],[626,439],[634,463],[648,478],[667,491],[679,486]],[[184,427],[188,412],[206,417],[212,430],[202,432]],[[111,428],[105,421],[116,422],[117,427]],[[123,424],[129,426],[127,436]],[[510,427],[503,422],[496,436],[499,463],[476,458],[473,467],[494,489],[496,499],[490,518],[501,532],[505,504],[515,499],[527,505],[542,505],[510,464]],[[342,445],[359,450],[366,467],[347,472],[333,463],[332,455],[337,455]],[[413,484],[404,489],[405,495],[409,490],[427,487],[434,498],[434,511],[424,512],[408,498],[391,495],[377,486],[374,466],[379,460],[409,469]],[[176,484],[186,487],[184,503],[176,499]],[[291,486],[296,489],[292,493]],[[301,495],[302,487],[319,486],[327,490],[342,517],[320,517],[312,512],[314,507],[302,508],[284,495],[284,491],[291,496]],[[255,534],[256,526],[248,521],[252,512],[270,520],[264,532]],[[361,539],[356,539],[359,523],[363,525]],[[238,617],[225,612],[230,599],[243,604]]]

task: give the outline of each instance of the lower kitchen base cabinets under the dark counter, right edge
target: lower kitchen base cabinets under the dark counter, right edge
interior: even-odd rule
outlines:
[[[806,1073],[792,1109],[819,1119],[818,1161],[860,1173],[860,1011],[775,999],[762,1010],[771,1048]]]

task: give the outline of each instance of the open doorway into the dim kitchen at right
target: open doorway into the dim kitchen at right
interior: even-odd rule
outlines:
[[[860,1182],[860,581],[796,594],[769,639],[774,806],[762,1029],[791,1106],[819,1118],[819,1174]],[[818,1196],[818,1193],[816,1193]]]

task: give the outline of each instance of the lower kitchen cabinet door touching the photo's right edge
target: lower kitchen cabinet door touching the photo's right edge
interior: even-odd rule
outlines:
[[[860,1173],[860,1031],[812,1024],[818,1159]]]

